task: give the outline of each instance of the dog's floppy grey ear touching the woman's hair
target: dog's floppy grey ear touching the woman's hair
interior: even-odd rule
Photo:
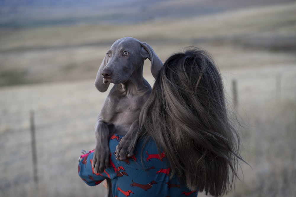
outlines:
[[[141,43],[141,46],[144,47],[144,51],[141,51],[144,53],[142,55],[144,55],[144,57],[146,57],[150,60],[151,73],[152,73],[154,79],[156,79],[158,72],[163,67],[163,63],[160,60],[160,58],[156,55],[156,53],[153,51],[153,49],[150,45],[148,45],[147,43]],[[148,54],[147,54],[147,52],[148,52]]]

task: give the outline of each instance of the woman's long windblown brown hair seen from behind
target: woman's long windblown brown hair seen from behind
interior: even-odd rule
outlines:
[[[198,48],[164,63],[142,108],[137,138],[151,137],[192,191],[221,196],[237,177],[239,135],[231,124],[221,75]]]

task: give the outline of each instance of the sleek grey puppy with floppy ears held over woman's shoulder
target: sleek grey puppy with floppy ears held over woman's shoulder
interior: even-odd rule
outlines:
[[[94,85],[100,92],[105,92],[110,83],[114,86],[104,101],[95,126],[96,148],[92,162],[95,172],[102,173],[109,165],[108,137],[114,133],[125,135],[116,147],[116,158],[124,160],[133,154],[134,145],[125,143],[124,138],[133,139],[135,136],[141,108],[152,90],[143,77],[147,58],[156,78],[163,66],[162,61],[147,43],[126,37],[115,41],[102,61]]]

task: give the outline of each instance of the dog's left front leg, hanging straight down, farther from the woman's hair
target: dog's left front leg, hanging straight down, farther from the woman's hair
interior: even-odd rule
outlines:
[[[96,148],[94,149],[94,156],[92,167],[95,173],[102,173],[109,165],[110,149],[109,149],[109,128],[106,123],[98,120],[95,126]]]

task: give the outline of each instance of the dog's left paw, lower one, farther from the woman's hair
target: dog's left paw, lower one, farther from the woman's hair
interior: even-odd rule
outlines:
[[[96,146],[94,149],[94,156],[92,160],[92,167],[94,169],[94,173],[102,173],[104,169],[109,165],[109,158],[110,158],[110,150],[102,149],[99,146]]]

